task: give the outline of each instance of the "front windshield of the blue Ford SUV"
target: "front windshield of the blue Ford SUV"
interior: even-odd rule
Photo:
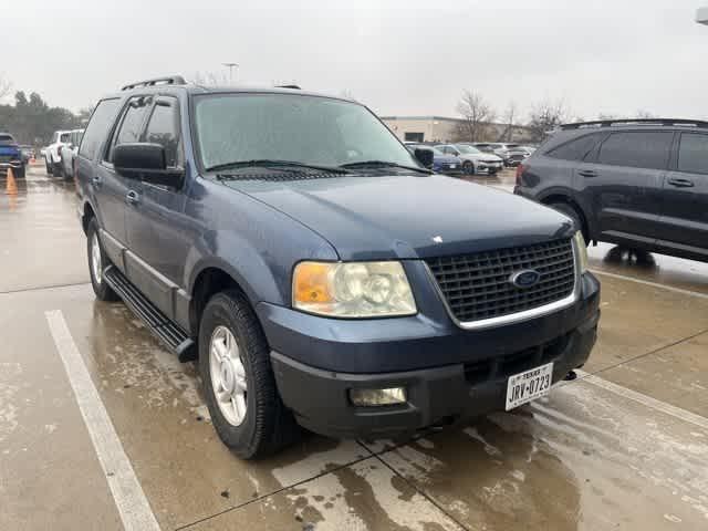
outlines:
[[[340,100],[294,94],[196,96],[195,125],[205,168],[260,159],[419,166],[366,107]]]

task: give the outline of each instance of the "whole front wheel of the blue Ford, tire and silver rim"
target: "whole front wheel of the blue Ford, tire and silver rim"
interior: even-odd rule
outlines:
[[[262,457],[296,438],[300,429],[278,393],[263,331],[237,290],[217,293],[202,312],[199,372],[214,427],[239,457]]]

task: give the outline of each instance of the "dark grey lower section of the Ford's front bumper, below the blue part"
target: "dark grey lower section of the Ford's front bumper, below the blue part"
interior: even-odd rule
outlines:
[[[343,374],[314,368],[277,352],[271,362],[284,404],[299,424],[337,438],[387,437],[438,424],[503,410],[510,375],[553,362],[553,383],[582,366],[595,343],[600,312],[542,352],[496,358],[482,364],[455,364],[402,373]],[[540,351],[540,350],[539,350]],[[405,387],[399,406],[356,407],[353,388]]]

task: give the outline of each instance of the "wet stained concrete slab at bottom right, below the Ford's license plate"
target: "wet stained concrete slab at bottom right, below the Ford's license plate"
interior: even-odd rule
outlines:
[[[471,529],[665,529],[708,519],[708,433],[591,384],[381,457]]]

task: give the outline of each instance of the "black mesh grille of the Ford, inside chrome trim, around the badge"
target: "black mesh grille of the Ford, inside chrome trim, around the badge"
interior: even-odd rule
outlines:
[[[543,306],[566,298],[575,285],[571,240],[431,258],[426,262],[460,322]],[[517,288],[510,277],[525,269],[538,271],[539,281],[530,288]]]

